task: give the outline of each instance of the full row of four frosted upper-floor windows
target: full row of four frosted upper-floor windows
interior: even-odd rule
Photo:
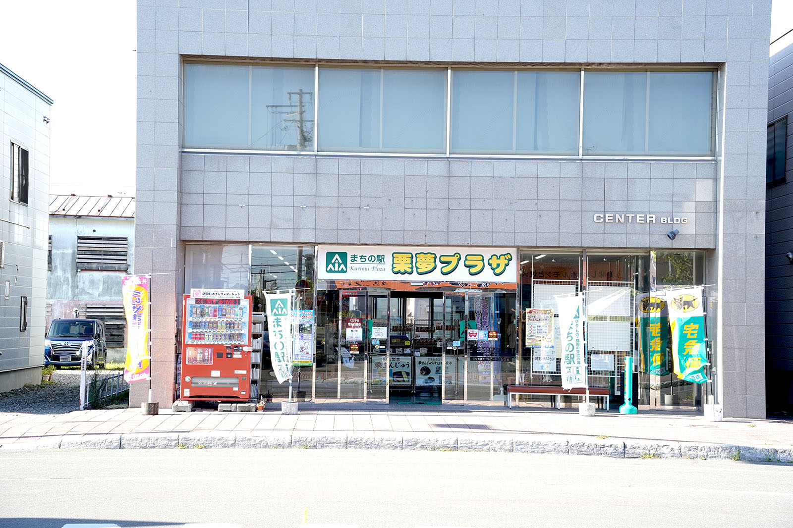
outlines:
[[[198,63],[185,68],[187,148],[606,157],[714,153],[713,71]]]

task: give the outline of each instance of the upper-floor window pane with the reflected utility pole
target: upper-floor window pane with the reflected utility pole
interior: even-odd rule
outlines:
[[[314,150],[314,68],[252,67],[251,147]]]

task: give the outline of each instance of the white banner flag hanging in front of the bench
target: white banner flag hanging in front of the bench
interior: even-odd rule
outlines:
[[[561,386],[587,386],[587,358],[584,351],[584,294],[556,297],[561,332]]]

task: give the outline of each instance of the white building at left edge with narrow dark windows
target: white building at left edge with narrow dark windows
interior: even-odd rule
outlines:
[[[52,99],[0,64],[0,392],[44,365]]]

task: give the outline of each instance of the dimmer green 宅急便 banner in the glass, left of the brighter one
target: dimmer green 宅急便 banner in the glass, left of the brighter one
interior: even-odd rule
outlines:
[[[669,373],[669,312],[666,300],[657,293],[649,292],[639,293],[637,301],[641,371],[666,376]]]

